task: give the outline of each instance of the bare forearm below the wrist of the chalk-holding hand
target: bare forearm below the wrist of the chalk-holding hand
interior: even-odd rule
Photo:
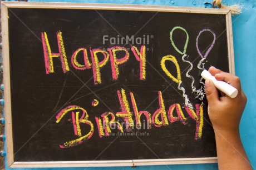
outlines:
[[[236,131],[214,131],[219,169],[252,169]]]

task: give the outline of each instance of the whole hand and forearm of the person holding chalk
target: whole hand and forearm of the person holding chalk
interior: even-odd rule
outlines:
[[[209,79],[205,81],[208,114],[214,128],[219,169],[252,170],[239,134],[239,123],[247,102],[240,79],[214,67],[210,67],[209,72],[217,80],[227,82],[238,90],[235,98],[225,96],[224,93],[219,97],[213,82]]]

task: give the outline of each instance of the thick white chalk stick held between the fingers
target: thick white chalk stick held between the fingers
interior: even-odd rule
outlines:
[[[229,97],[231,98],[237,97],[238,91],[236,88],[234,88],[233,86],[231,86],[226,82],[216,80],[215,77],[212,76],[208,71],[204,70],[201,73],[201,76],[204,79],[211,79],[211,81],[213,81],[214,83],[214,86],[218,88],[221,92],[227,94]]]

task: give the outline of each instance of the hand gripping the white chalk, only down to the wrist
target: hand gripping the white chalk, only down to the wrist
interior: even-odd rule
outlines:
[[[221,97],[219,97],[213,82],[209,79],[205,81],[208,114],[214,131],[238,131],[240,119],[247,103],[247,97],[241,89],[240,79],[214,67],[210,67],[209,72],[217,80],[227,82],[238,90],[238,95],[235,98],[225,96],[224,93],[221,93]]]

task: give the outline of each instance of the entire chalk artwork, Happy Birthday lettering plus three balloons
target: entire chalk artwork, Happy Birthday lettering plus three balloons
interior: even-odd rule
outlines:
[[[186,41],[184,44],[183,51],[180,51],[174,43],[173,34],[176,29],[180,29],[186,34]],[[206,53],[201,54],[198,47],[199,36],[203,32],[210,32],[213,34],[213,42],[210,47],[206,51]],[[63,37],[61,31],[57,32],[57,44],[59,53],[52,53],[50,43],[48,42],[48,37],[46,32],[41,33],[42,36],[42,44],[43,44],[43,52],[45,57],[45,68],[46,74],[55,73],[53,67],[53,58],[60,58],[61,66],[63,73],[70,71],[68,67],[67,56],[65,53],[65,47],[63,42]],[[196,37],[196,49],[201,56],[201,60],[198,63],[198,69],[204,69],[204,62],[209,52],[214,46],[215,43],[215,34],[210,29],[203,29],[199,32]],[[189,64],[188,70],[186,71],[186,78],[191,80],[191,91],[196,93],[195,98],[199,98],[201,101],[205,96],[205,88],[201,86],[199,89],[195,87],[195,78],[189,74],[189,72],[193,69],[193,62],[189,61],[189,56],[186,54],[186,48],[188,47],[189,42],[189,34],[185,28],[182,27],[174,27],[170,32],[170,41],[174,49],[182,54],[182,61]],[[95,85],[101,84],[101,68],[104,67],[107,63],[110,63],[112,80],[117,81],[119,79],[119,66],[121,64],[129,61],[131,54],[136,58],[136,61],[139,62],[139,71],[140,71],[140,80],[146,80],[146,46],[142,45],[141,47],[131,46],[131,52],[125,47],[114,46],[107,48],[107,51],[100,48],[88,48],[90,51],[90,55],[88,55],[86,48],[78,48],[71,56],[71,66],[78,70],[86,70],[91,69],[93,73],[93,82]],[[121,52],[121,55],[117,57],[117,53]],[[78,53],[81,53],[82,60],[78,59]],[[79,62],[78,62],[79,61]],[[110,62],[109,62],[110,61]],[[176,77],[173,76],[170,69],[166,67],[166,62],[171,62],[174,64]],[[182,91],[182,96],[185,99],[185,103],[182,105],[180,103],[172,103],[169,108],[166,109],[165,100],[163,98],[163,94],[161,91],[157,91],[158,94],[158,108],[155,109],[154,112],[149,111],[140,111],[137,107],[137,101],[134,96],[134,93],[129,92],[129,96],[126,95],[125,89],[121,88],[117,90],[117,97],[120,103],[120,111],[116,113],[112,113],[110,111],[105,111],[100,115],[100,117],[95,117],[96,127],[98,131],[98,135],[100,138],[110,136],[113,129],[118,129],[119,133],[124,133],[124,131],[130,132],[132,129],[137,128],[140,129],[142,127],[142,115],[143,119],[147,124],[147,129],[160,128],[162,126],[169,126],[175,122],[181,122],[186,126],[188,124],[188,119],[193,119],[196,122],[195,127],[195,140],[198,140],[202,136],[203,126],[204,126],[204,112],[203,106],[204,103],[196,103],[193,104],[190,102],[188,95],[186,94],[185,87],[182,86],[183,81],[181,81],[181,71],[179,62],[173,55],[167,55],[161,58],[160,66],[163,72],[166,74],[168,78],[178,84],[178,89]],[[203,81],[200,80],[201,83]],[[130,101],[129,101],[130,100]],[[140,101],[141,102],[141,101]],[[130,106],[131,103],[131,106]],[[91,106],[97,107],[99,105],[99,101],[97,99],[93,99]],[[195,109],[194,109],[195,108]],[[83,141],[90,139],[93,136],[93,132],[95,131],[95,126],[93,126],[93,121],[89,119],[89,113],[87,113],[87,109],[82,108],[80,106],[68,106],[63,108],[56,116],[56,123],[59,123],[64,116],[71,116],[69,121],[72,121],[73,134],[75,139],[71,141],[67,141],[60,145],[61,148],[74,147],[78,144],[81,144]],[[176,113],[176,116],[174,116]],[[121,122],[120,122],[121,121]],[[83,126],[83,130],[81,129],[80,124],[87,124],[87,126]],[[145,128],[145,126],[144,126]]]

